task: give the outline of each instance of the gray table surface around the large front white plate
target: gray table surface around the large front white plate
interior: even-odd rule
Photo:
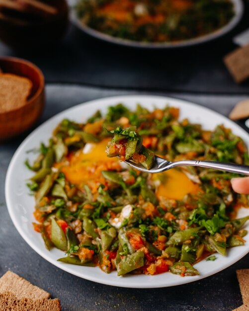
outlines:
[[[87,100],[139,92],[50,84],[39,121]],[[143,92],[144,94],[144,92]],[[150,94],[154,94],[150,92]],[[158,93],[159,94],[159,93]],[[228,115],[240,95],[159,94],[183,98]],[[0,275],[8,269],[58,297],[64,311],[230,311],[242,305],[236,269],[249,268],[249,255],[226,270],[199,282],[162,289],[125,289],[83,280],[40,257],[14,228],[4,199],[4,179],[16,148],[28,133],[0,145]],[[108,276],[106,276],[108,277]]]

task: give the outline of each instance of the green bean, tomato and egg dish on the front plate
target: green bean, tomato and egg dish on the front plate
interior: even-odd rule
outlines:
[[[237,175],[192,166],[148,174],[120,161],[132,157],[150,169],[155,154],[249,164],[230,129],[204,130],[179,120],[175,107],[131,111],[120,103],[85,123],[62,120],[37,159],[25,162],[34,171],[27,184],[34,230],[48,250],[65,252],[58,261],[118,276],[194,276],[195,263],[245,244],[249,216],[236,216],[249,197],[232,190]]]

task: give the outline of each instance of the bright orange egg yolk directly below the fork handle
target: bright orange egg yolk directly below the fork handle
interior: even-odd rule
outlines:
[[[153,175],[154,180],[160,180],[156,196],[167,199],[182,200],[188,193],[197,193],[199,186],[193,183],[183,172],[170,169]]]

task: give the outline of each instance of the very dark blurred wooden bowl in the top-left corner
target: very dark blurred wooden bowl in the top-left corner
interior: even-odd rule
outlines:
[[[58,9],[53,18],[39,22],[18,23],[12,19],[0,19],[0,40],[16,50],[47,50],[65,34],[68,26],[68,4],[66,0],[49,0]]]

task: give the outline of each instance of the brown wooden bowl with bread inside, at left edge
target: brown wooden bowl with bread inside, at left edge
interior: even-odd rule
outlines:
[[[30,128],[41,116],[44,104],[44,77],[32,63],[0,58],[0,140]]]

